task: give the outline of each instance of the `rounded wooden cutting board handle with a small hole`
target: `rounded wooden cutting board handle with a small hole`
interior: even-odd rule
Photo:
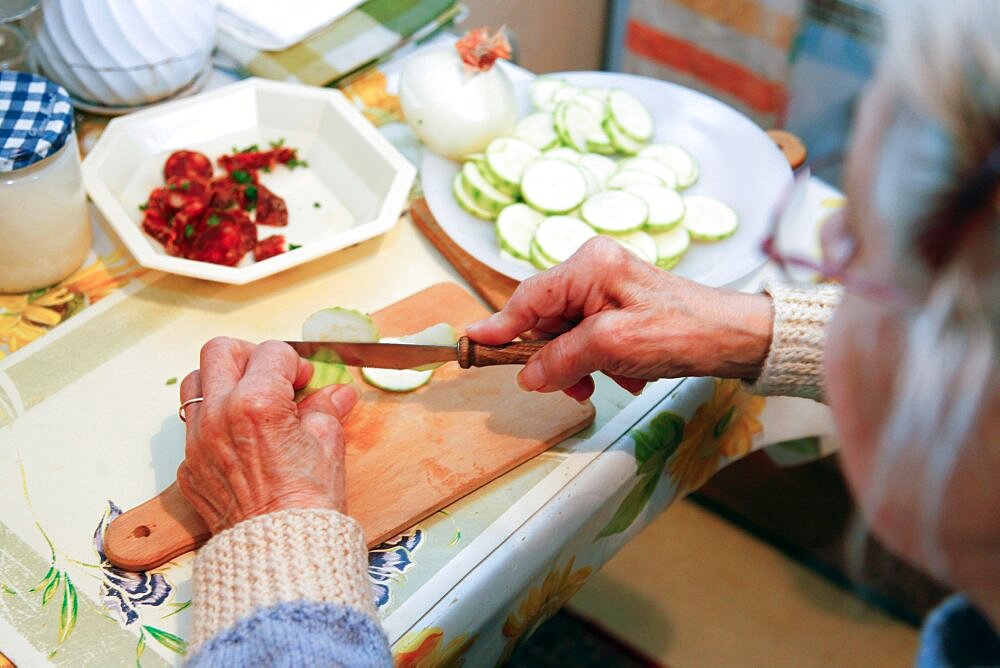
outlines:
[[[203,545],[212,537],[174,482],[140,506],[116,517],[104,537],[108,561],[144,571]]]

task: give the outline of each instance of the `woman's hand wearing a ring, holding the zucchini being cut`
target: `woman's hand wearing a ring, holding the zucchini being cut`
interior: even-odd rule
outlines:
[[[212,339],[201,368],[181,383],[187,407],[181,492],[218,533],[245,519],[290,508],[344,511],[344,432],[357,402],[334,385],[295,403],[312,365],[280,341]]]

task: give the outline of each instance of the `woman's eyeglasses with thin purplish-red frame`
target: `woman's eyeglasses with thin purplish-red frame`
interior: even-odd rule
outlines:
[[[827,158],[831,162],[840,156]],[[796,234],[796,225],[808,208],[808,191],[811,170],[800,169],[784,189],[771,216],[768,235],[761,242],[761,251],[781,270],[790,283],[840,283],[845,290],[890,304],[908,300],[895,287],[868,280],[852,274],[848,267],[857,256],[858,240],[846,225],[846,209],[841,208],[827,218],[820,230],[819,259],[809,257],[804,246],[809,240]],[[805,243],[803,240],[805,239]],[[813,242],[815,245],[815,242]]]

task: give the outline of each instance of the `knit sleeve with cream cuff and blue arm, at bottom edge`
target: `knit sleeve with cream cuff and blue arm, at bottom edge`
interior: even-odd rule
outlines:
[[[189,665],[389,666],[361,527],[285,510],[213,537],[194,571]]]

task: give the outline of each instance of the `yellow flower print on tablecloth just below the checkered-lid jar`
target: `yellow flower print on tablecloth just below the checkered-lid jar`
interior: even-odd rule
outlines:
[[[145,271],[118,249],[52,287],[0,295],[0,358],[41,338]]]

